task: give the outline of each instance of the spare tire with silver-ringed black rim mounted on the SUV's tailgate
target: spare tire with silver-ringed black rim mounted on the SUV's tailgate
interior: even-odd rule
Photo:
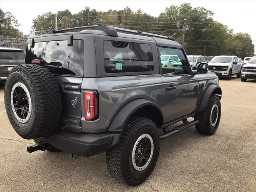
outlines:
[[[12,127],[24,139],[45,137],[58,128],[60,89],[44,66],[15,66],[6,80],[4,103]]]

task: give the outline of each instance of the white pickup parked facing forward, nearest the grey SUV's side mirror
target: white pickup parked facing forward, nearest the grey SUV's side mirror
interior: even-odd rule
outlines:
[[[208,63],[208,67],[208,70],[217,76],[230,80],[232,75],[240,78],[242,62],[238,61],[237,56],[215,56]]]

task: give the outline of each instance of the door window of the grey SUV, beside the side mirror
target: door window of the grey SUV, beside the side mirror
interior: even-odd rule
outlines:
[[[160,52],[163,75],[190,74],[190,66],[181,49],[158,47],[158,50]],[[173,62],[168,61],[170,56],[174,58]]]

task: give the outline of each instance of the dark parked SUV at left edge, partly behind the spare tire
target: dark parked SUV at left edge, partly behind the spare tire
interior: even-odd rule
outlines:
[[[5,81],[12,68],[24,64],[25,54],[18,48],[0,47],[0,81]]]

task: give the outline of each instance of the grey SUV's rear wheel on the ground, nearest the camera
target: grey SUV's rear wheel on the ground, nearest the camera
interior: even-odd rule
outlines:
[[[106,152],[110,174],[130,186],[144,182],[158,160],[160,138],[156,124],[144,117],[132,117],[122,131],[120,142]]]

